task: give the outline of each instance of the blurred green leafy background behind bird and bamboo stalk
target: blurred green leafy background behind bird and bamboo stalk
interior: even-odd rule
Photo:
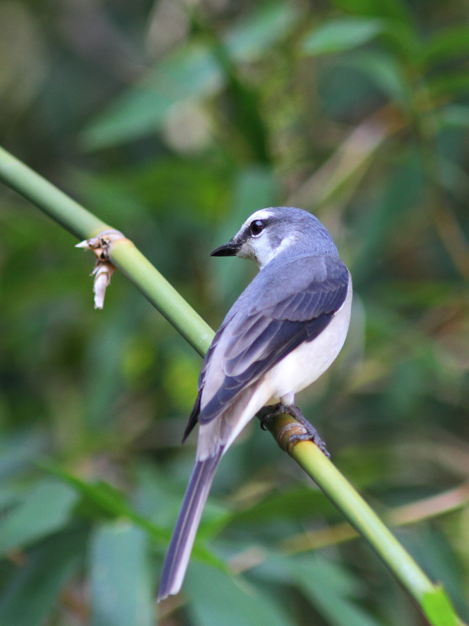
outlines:
[[[1,144],[214,328],[255,270],[208,255],[249,214],[293,204],[331,230],[354,314],[302,408],[465,620],[468,18],[453,0],[0,3]],[[90,255],[0,202],[0,624],[422,624],[258,424],[156,607],[200,359],[122,275],[94,311]]]

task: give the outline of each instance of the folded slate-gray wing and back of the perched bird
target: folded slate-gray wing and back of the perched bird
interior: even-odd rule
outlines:
[[[338,257],[274,259],[233,305],[206,354],[184,438],[220,415],[246,385],[303,342],[317,337],[343,305],[349,275]],[[215,383],[215,385],[214,385]],[[201,394],[215,386],[201,408]]]

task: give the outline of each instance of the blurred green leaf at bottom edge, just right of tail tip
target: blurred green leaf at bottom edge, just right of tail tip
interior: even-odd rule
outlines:
[[[188,611],[199,626],[293,626],[274,598],[199,563],[190,565],[184,591],[190,600]]]

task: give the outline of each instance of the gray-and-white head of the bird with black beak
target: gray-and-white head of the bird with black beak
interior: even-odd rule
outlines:
[[[318,218],[295,207],[272,207],[252,214],[212,257],[252,259],[259,268],[290,249],[299,253],[338,255],[337,248]]]

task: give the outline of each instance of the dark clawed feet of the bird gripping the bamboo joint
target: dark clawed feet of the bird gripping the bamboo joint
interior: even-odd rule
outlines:
[[[295,420],[302,426],[302,428],[295,427],[295,424],[287,424],[287,426],[283,426],[279,435],[277,436],[277,440],[281,443],[281,447],[285,449],[287,452],[293,448],[293,446],[299,441],[312,441],[320,451],[330,458],[329,451],[327,451],[326,444],[322,441],[319,436],[318,431],[315,429],[313,424],[308,422],[306,417],[302,414],[301,410],[297,406],[291,406],[287,404],[282,404],[279,402],[278,404],[274,404],[272,406],[265,407],[261,412],[261,428],[263,431],[270,430],[269,422],[272,422],[274,417],[278,417],[279,415],[291,415]],[[284,432],[285,431],[285,432]],[[287,432],[288,431],[288,432]],[[283,438],[286,437],[286,442],[283,443]]]

